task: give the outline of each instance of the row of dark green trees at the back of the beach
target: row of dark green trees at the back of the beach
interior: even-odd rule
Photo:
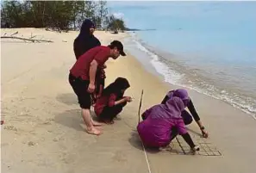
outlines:
[[[1,28],[80,28],[85,18],[97,29],[124,31],[125,23],[109,13],[106,1],[3,1]]]

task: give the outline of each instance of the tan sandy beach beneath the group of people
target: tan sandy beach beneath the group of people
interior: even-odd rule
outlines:
[[[1,29],[1,35],[16,31],[16,36],[33,34],[53,43],[1,40],[2,172],[149,172],[135,131],[140,92],[144,90],[143,112],[161,102],[168,90],[179,87],[164,83],[131,55],[109,60],[106,83],[116,77],[128,78],[131,87],[126,95],[133,96],[134,102],[128,103],[114,125],[103,126],[102,135],[89,135],[84,132],[78,101],[68,83],[68,73],[75,62],[72,44],[78,32],[14,28]],[[126,33],[95,34],[103,45],[128,37]],[[188,128],[202,150],[190,155],[180,137],[172,142],[172,151],[147,150],[151,172],[254,173],[256,121],[225,102],[193,90],[189,93],[209,139],[201,137],[193,122]]]

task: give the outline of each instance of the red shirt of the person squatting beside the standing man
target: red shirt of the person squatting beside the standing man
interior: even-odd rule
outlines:
[[[103,108],[105,106],[109,106],[109,107],[115,106],[116,98],[117,98],[116,94],[111,94],[110,96],[101,96],[100,98],[98,98],[94,106],[95,114],[97,114],[97,116],[99,114],[102,114]]]

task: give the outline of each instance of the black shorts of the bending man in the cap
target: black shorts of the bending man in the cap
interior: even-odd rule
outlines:
[[[81,77],[74,77],[69,74],[69,83],[72,85],[72,89],[78,96],[78,103],[81,108],[90,109],[91,108],[91,93],[89,93],[88,86],[90,81],[82,80]]]

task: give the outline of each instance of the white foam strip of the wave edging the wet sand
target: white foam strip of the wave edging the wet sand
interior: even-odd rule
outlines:
[[[240,108],[240,110],[252,115],[253,119],[256,120],[256,108],[253,108],[253,106],[250,105],[250,102],[245,102],[244,99],[241,99],[240,95],[235,93],[230,94],[227,90],[219,90],[214,85],[205,83],[204,81],[200,81],[199,84],[194,81],[187,81],[186,83],[183,83],[183,73],[176,71],[172,69],[172,66],[161,62],[157,54],[151,52],[147,47],[140,44],[136,34],[133,34],[132,37],[134,38],[133,41],[136,44],[136,47],[151,58],[150,63],[153,65],[155,70],[165,78],[165,82],[185,87],[190,90],[196,90],[204,95],[228,102],[234,106],[234,108]],[[256,105],[256,101],[253,105]]]

